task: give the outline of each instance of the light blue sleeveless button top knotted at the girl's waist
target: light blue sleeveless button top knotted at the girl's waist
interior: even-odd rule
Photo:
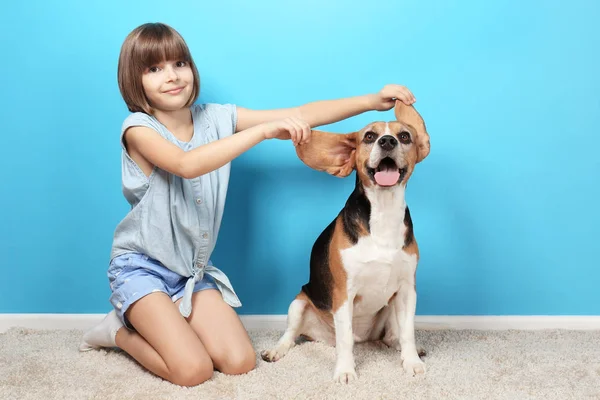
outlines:
[[[184,151],[234,134],[234,105],[193,105],[191,111],[194,134],[189,142],[180,141],[156,118],[144,113],[133,113],[123,122],[122,185],[131,210],[115,230],[111,251],[111,260],[125,253],[143,253],[188,277],[179,306],[184,317],[192,311],[194,285],[204,273],[215,279],[225,302],[241,306],[227,276],[210,262],[225,208],[230,163],[194,179],[158,167],[146,176],[127,153],[123,133],[132,126],[145,126]]]

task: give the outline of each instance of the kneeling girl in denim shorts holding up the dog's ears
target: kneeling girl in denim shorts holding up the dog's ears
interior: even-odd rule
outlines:
[[[81,351],[119,347],[182,386],[216,369],[243,374],[256,356],[232,307],[241,305],[210,261],[230,162],[265,139],[310,140],[311,127],[415,99],[403,86],[297,108],[249,110],[194,104],[196,65],[183,38],[160,23],[133,30],[121,48],[123,193],[131,210],[116,228],[108,279],[114,309],[86,332]],[[234,135],[235,133],[235,135]]]

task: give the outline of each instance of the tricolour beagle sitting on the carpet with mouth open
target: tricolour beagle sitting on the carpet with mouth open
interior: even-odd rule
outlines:
[[[405,192],[429,154],[429,135],[413,106],[396,101],[394,112],[397,121],[349,134],[313,131],[309,143],[297,146],[313,169],[338,177],[356,170],[356,185],[314,243],[309,281],[263,360],[279,360],[299,337],[325,342],[336,347],[334,380],[348,383],[357,378],[354,343],[381,340],[401,350],[405,371],[425,372],[414,335],[419,249]]]

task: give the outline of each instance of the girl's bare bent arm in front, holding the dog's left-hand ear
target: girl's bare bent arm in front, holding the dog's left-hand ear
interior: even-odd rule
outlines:
[[[135,126],[126,131],[125,143],[138,164],[151,164],[182,178],[192,179],[222,167],[265,139],[292,139],[296,145],[307,142],[310,133],[308,123],[288,118],[256,125],[236,135],[183,151],[153,129]],[[142,160],[136,160],[140,157]]]

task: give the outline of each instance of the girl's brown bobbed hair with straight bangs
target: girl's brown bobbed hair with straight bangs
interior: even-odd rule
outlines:
[[[173,60],[189,63],[194,74],[194,88],[186,104],[189,107],[200,94],[200,77],[181,35],[162,23],[140,25],[127,35],[119,55],[117,79],[129,111],[153,113],[142,86],[142,74],[146,68]]]

